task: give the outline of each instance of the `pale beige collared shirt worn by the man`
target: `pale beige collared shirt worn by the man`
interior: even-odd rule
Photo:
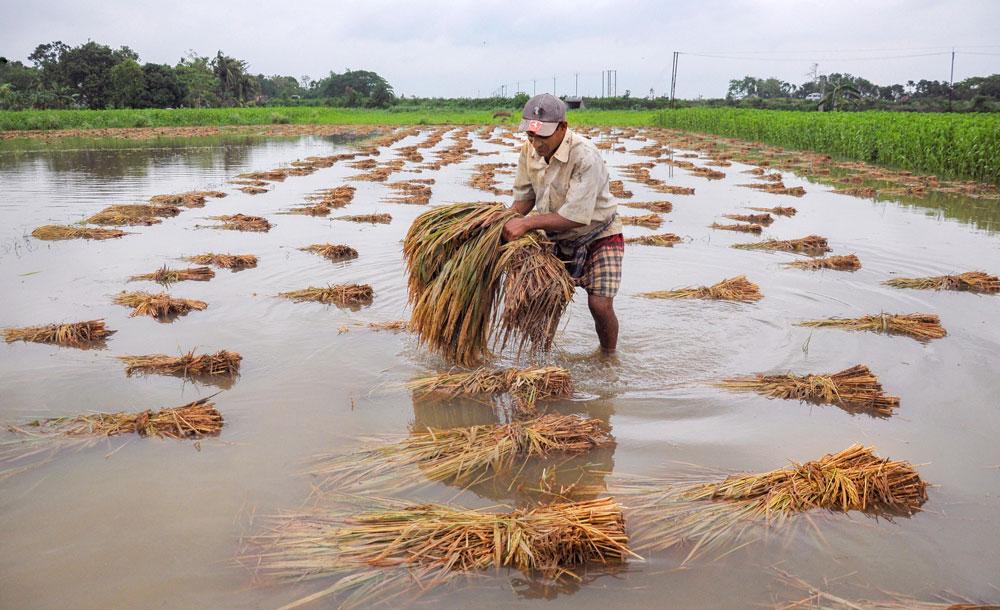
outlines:
[[[535,152],[530,142],[524,143],[514,178],[514,200],[534,200],[539,214],[555,212],[583,224],[549,235],[553,241],[580,237],[607,222],[618,211],[611,197],[608,168],[597,147],[569,130],[548,163]],[[615,218],[595,239],[621,232],[621,220]]]

